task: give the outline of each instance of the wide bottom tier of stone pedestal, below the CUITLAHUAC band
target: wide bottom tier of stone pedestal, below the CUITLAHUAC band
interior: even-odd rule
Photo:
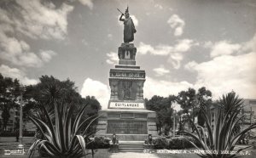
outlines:
[[[157,135],[154,111],[108,109],[100,115],[96,135],[112,138],[116,133],[120,141],[144,141],[148,134]]]

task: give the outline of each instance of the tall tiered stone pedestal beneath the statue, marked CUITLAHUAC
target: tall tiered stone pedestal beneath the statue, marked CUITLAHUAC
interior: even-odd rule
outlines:
[[[148,134],[157,135],[155,112],[146,110],[143,99],[145,71],[136,65],[137,48],[122,43],[118,49],[119,65],[109,72],[111,95],[108,109],[101,110],[96,135],[120,141],[144,141]]]

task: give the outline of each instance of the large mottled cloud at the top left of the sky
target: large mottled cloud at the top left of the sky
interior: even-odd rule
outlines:
[[[62,3],[60,8],[55,8],[53,3],[41,3],[34,0],[16,1],[20,10],[7,13],[20,31],[28,37],[43,39],[64,39],[67,34],[67,14],[73,11],[73,6]],[[14,14],[18,12],[17,14]],[[20,17],[21,16],[21,17]]]

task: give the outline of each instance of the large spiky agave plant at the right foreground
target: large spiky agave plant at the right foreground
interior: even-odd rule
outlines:
[[[224,99],[226,99],[226,97],[224,97]],[[230,108],[227,111],[224,111],[223,109],[218,109],[217,121],[215,121],[213,131],[211,129],[211,124],[206,112],[203,112],[203,117],[206,120],[207,133],[204,131],[203,127],[195,126],[195,123],[193,121],[190,121],[192,126],[195,127],[195,134],[188,132],[183,133],[186,133],[190,137],[195,138],[195,140],[200,144],[199,146],[197,146],[193,142],[189,141],[190,144],[193,144],[195,148],[199,150],[199,152],[196,153],[197,155],[200,155],[204,158],[237,157],[239,155],[236,155],[236,153],[249,147],[248,146],[237,150],[236,152],[232,152],[235,149],[237,141],[249,130],[256,128],[256,123],[253,123],[251,126],[243,129],[241,132],[234,133],[234,127],[236,127],[237,123],[241,121],[242,118],[242,116],[240,115],[242,107],[238,106],[237,104],[232,107],[236,108]]]

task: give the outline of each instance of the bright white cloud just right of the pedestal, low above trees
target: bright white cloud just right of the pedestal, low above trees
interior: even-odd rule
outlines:
[[[180,91],[186,90],[194,85],[189,82],[166,82],[162,80],[155,80],[151,77],[146,77],[144,84],[144,98],[151,99],[154,95],[168,97],[169,95],[177,95]]]

